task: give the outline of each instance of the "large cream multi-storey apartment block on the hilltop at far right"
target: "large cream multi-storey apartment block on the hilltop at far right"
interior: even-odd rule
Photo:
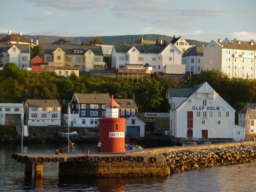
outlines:
[[[204,47],[204,70],[219,69],[229,77],[255,78],[256,43],[212,40]]]

